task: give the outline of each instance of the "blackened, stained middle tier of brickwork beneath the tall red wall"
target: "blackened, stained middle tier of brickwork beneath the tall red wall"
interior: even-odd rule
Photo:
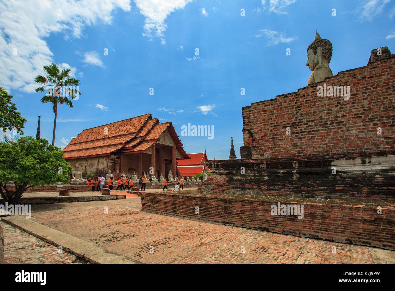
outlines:
[[[211,176],[198,186],[200,192],[395,201],[395,156],[209,160],[206,165]]]

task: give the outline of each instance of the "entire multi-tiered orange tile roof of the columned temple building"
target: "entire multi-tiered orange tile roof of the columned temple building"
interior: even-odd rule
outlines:
[[[189,159],[171,122],[159,123],[149,113],[117,122],[84,129],[62,150],[64,158],[108,156],[120,152],[146,152],[160,140],[165,130],[169,131],[177,150],[184,159]],[[180,160],[179,160],[180,161]]]

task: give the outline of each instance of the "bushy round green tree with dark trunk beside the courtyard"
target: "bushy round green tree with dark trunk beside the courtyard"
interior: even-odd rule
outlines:
[[[46,139],[20,137],[0,143],[0,152],[0,194],[8,204],[18,204],[32,186],[70,182],[71,166]]]

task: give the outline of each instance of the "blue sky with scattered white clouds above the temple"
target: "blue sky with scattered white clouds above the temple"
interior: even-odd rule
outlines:
[[[61,148],[85,128],[149,112],[173,122],[187,153],[227,159],[233,137],[239,157],[241,107],[307,86],[316,30],[333,44],[333,74],[365,66],[372,49],[395,52],[395,1],[0,1],[0,11],[0,86],[27,135],[40,115],[52,141],[52,107],[34,92],[42,66],[81,81],[73,108],[58,108]],[[182,137],[188,123],[214,126],[214,138]]]

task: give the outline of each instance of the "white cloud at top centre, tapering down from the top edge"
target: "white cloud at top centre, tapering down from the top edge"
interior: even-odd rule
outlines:
[[[163,38],[167,27],[165,23],[167,16],[175,10],[183,9],[192,0],[134,0],[134,2],[140,13],[145,16],[143,36]],[[162,43],[164,41],[162,40]]]

